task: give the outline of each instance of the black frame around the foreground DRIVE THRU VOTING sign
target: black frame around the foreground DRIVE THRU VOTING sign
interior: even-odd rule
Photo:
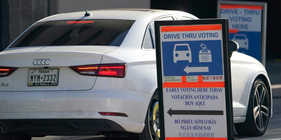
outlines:
[[[203,20],[173,20],[173,21],[155,21],[155,42],[156,42],[156,65],[157,65],[157,84],[159,98],[159,113],[160,113],[160,139],[165,140],[164,126],[164,103],[163,103],[163,85],[162,85],[162,64],[161,64],[161,48],[160,48],[160,26],[188,26],[188,25],[211,25],[221,24],[222,26],[222,57],[223,70],[225,80],[225,103],[226,103],[226,119],[227,119],[227,139],[234,138],[233,124],[233,107],[232,107],[232,86],[231,86],[231,71],[230,71],[230,48],[229,48],[229,30],[228,19],[203,19]],[[163,139],[164,138],[164,139]]]

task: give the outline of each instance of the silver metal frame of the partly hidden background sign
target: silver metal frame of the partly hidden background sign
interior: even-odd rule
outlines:
[[[252,1],[217,1],[217,18],[220,17],[220,5],[247,5],[247,6],[263,6],[262,10],[262,24],[261,24],[261,63],[265,67],[265,57],[266,57],[266,21],[267,21],[267,3],[266,2],[252,2]]]

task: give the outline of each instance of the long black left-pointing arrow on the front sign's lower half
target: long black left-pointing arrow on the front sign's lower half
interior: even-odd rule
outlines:
[[[172,115],[223,115],[220,110],[172,110],[167,112],[171,117]]]

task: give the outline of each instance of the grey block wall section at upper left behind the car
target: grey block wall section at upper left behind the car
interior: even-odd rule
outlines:
[[[9,44],[34,22],[47,17],[47,0],[8,0]]]

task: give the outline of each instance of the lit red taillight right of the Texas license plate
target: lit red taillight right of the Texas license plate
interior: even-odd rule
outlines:
[[[89,76],[124,78],[126,74],[126,64],[123,63],[72,66],[70,68],[78,74]]]

